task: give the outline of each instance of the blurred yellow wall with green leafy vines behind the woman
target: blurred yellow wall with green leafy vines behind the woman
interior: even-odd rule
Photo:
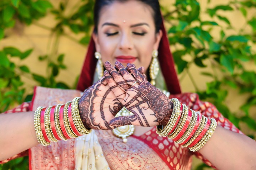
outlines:
[[[255,138],[256,0],[159,2],[182,91],[197,92]],[[37,85],[75,89],[93,5],[94,0],[0,1],[0,113],[30,101]],[[0,169],[28,169],[27,158]],[[195,159],[192,169],[210,168]]]

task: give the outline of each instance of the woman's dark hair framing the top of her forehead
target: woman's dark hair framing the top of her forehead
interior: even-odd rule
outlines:
[[[96,0],[95,1],[95,6],[94,6],[94,33],[98,33],[97,30],[97,26],[98,26],[98,21],[100,18],[100,11],[101,9],[106,6],[106,5],[111,5],[114,1],[118,1],[118,2],[127,2],[129,0]],[[150,6],[153,10],[153,18],[154,18],[154,22],[155,22],[155,30],[156,33],[159,32],[160,30],[160,26],[162,23],[162,16],[161,16],[161,12],[160,12],[160,5],[158,0],[137,0],[137,1],[141,1],[144,4]]]

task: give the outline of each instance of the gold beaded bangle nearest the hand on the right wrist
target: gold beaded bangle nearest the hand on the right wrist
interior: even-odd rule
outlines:
[[[158,126],[158,128],[156,128],[156,133],[159,136],[163,136],[163,137],[167,136],[169,134],[169,132],[174,128],[174,125],[175,125],[179,115],[181,114],[180,113],[180,108],[181,108],[180,101],[178,101],[177,98],[172,98],[171,101],[174,104],[171,118],[163,129],[160,128],[161,126]]]

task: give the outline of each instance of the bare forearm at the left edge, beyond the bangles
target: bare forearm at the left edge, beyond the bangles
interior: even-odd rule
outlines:
[[[36,145],[34,112],[0,114],[0,160]]]

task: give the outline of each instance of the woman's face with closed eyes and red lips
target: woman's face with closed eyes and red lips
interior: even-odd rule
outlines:
[[[135,0],[103,7],[97,28],[93,38],[102,62],[133,63],[137,68],[149,67],[162,36],[161,31],[155,33],[151,7]]]

